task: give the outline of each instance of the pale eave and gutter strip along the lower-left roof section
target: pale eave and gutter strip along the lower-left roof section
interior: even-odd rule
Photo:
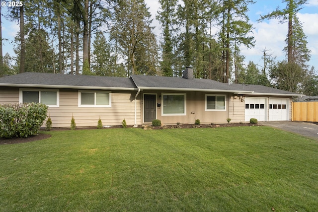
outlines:
[[[3,87],[39,87],[39,88],[64,88],[64,89],[90,89],[90,90],[138,90],[131,87],[100,87],[100,86],[76,86],[76,85],[43,85],[43,84],[14,84],[0,83]]]

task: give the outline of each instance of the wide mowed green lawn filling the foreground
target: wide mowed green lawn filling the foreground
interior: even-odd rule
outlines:
[[[318,211],[318,142],[295,134],[263,126],[48,133],[0,145],[0,211]]]

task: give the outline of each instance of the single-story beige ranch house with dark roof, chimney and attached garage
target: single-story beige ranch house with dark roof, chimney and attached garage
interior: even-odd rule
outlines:
[[[103,125],[290,121],[292,97],[301,96],[261,85],[228,84],[183,77],[131,75],[106,77],[25,72],[0,78],[0,104],[42,102],[53,127]]]

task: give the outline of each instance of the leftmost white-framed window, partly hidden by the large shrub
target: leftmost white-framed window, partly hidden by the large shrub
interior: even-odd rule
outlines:
[[[59,107],[58,90],[20,89],[20,103],[42,103],[49,107]]]

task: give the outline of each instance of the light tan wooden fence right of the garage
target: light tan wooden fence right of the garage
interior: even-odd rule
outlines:
[[[293,102],[292,121],[318,122],[318,102]]]

